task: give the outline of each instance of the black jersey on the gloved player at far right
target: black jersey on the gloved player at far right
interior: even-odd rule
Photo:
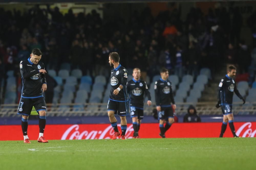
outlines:
[[[234,79],[226,75],[221,79],[218,87],[218,101],[221,101],[221,105],[232,104],[234,92],[240,99],[243,98],[237,89]]]

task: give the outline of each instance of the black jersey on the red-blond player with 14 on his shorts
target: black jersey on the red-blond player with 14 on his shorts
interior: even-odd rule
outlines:
[[[151,100],[150,92],[148,91],[147,84],[141,80],[130,80],[127,83],[127,93],[129,93],[130,105],[143,109],[144,106],[144,94],[148,100]]]

